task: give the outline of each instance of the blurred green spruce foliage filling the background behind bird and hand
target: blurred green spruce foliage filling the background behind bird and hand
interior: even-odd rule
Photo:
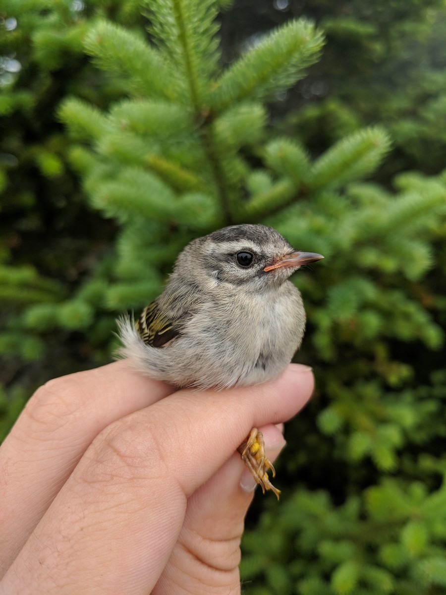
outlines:
[[[243,592],[446,593],[445,39],[433,0],[2,1],[0,437],[190,239],[271,224],[325,256],[317,389]]]

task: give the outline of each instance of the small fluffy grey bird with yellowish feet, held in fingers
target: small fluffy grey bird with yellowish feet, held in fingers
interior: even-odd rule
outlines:
[[[262,224],[232,225],[194,239],[136,323],[130,315],[118,319],[118,356],[178,388],[221,390],[272,380],[299,349],[306,324],[289,277],[322,258],[295,250]],[[262,433],[253,428],[237,450],[263,493],[279,497]]]

